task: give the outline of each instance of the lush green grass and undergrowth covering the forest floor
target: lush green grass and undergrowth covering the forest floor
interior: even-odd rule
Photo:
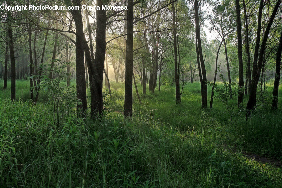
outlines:
[[[121,113],[124,85],[111,82],[101,119],[76,118],[62,102],[60,123],[47,91],[33,106],[29,81],[17,80],[21,101],[5,99],[9,88],[2,89],[3,81],[0,87],[0,187],[282,185],[282,100],[277,111],[270,110],[270,83],[258,92],[257,109],[247,121],[237,97],[226,106],[215,94],[213,108],[202,110],[197,82],[185,86],[179,105],[173,86],[143,95],[138,85],[142,104],[133,90],[131,119]]]

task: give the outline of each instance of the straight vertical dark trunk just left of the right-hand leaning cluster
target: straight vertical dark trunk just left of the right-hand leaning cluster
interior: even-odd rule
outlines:
[[[237,39],[238,39],[238,63],[239,63],[238,107],[240,107],[241,103],[243,103],[243,95],[244,95],[244,70],[243,70],[241,17],[240,17],[239,0],[236,0],[236,17],[237,17]]]

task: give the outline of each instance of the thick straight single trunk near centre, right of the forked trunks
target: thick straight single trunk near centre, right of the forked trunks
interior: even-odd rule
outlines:
[[[125,58],[124,116],[132,116],[132,77],[133,77],[133,0],[128,0],[127,36]]]

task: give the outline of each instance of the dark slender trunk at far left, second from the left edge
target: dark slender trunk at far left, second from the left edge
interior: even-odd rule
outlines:
[[[8,13],[9,15],[10,13]],[[9,15],[10,17],[10,15]],[[11,25],[8,26],[8,43],[11,61],[11,100],[16,100],[16,70],[15,70],[15,53],[13,45],[13,34]]]

